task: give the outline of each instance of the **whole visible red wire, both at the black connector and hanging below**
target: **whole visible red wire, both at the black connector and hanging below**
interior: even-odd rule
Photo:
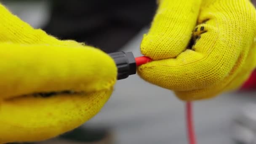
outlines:
[[[149,57],[146,56],[140,56],[135,58],[137,67],[146,64],[149,61],[152,61]],[[186,119],[187,119],[187,136],[189,144],[197,144],[196,142],[196,136],[195,136],[195,130],[193,125],[193,109],[192,109],[192,103],[187,102],[186,103]]]

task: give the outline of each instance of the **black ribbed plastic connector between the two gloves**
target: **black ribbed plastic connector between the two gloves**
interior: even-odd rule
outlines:
[[[117,80],[122,80],[129,77],[129,75],[136,74],[136,61],[132,52],[125,53],[120,51],[116,53],[109,53],[109,56],[114,59],[115,64],[117,65]]]

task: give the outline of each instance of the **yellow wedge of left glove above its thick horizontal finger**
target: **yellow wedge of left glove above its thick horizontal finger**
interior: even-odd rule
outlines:
[[[34,29],[26,22],[13,15],[0,4],[0,43],[50,44],[50,45],[82,45],[72,40],[58,40],[47,35],[41,29]]]

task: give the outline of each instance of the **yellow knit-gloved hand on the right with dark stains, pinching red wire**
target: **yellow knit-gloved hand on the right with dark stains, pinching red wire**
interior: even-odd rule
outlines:
[[[239,88],[256,67],[256,10],[249,0],[159,0],[138,69],[184,101]],[[192,37],[192,38],[191,38]]]

